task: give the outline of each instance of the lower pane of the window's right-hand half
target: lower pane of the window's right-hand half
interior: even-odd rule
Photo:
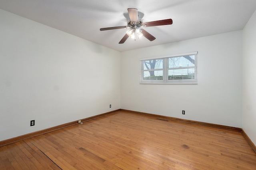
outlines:
[[[194,79],[194,78],[195,78],[194,68],[168,70],[168,80]]]

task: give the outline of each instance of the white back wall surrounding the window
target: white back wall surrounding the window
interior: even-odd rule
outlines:
[[[140,58],[194,51],[198,85],[139,83]],[[242,127],[242,31],[130,50],[121,57],[122,109]]]

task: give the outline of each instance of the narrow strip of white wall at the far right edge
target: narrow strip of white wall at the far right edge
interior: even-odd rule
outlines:
[[[243,123],[256,144],[256,12],[243,29]]]

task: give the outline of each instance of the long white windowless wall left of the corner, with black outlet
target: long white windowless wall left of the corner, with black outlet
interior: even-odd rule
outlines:
[[[0,10],[0,141],[119,108],[120,52]]]

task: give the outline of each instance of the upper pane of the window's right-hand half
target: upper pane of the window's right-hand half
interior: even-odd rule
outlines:
[[[195,66],[195,56],[180,56],[169,58],[169,68],[178,67],[194,67]]]

